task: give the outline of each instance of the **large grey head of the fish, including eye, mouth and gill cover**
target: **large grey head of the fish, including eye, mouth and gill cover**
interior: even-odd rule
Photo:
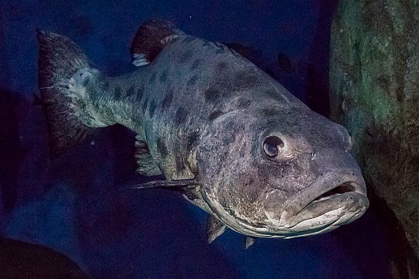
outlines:
[[[242,234],[329,232],[369,206],[351,145],[343,126],[308,108],[269,117],[230,112],[198,145],[201,195],[210,213]]]

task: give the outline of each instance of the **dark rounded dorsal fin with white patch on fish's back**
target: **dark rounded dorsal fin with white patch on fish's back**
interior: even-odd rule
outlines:
[[[149,20],[142,24],[131,44],[131,58],[135,66],[147,65],[170,42],[165,40],[173,35],[182,35],[166,20]]]

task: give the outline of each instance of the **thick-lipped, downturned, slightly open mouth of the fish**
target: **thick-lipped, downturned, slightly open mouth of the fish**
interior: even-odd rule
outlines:
[[[368,206],[360,174],[326,174],[290,199],[281,213],[265,211],[267,228],[286,239],[321,234],[360,218]]]

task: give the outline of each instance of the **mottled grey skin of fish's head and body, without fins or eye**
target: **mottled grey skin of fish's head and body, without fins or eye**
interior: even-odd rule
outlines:
[[[127,75],[80,70],[91,75],[78,82],[85,125],[134,130],[167,179],[196,177],[191,202],[242,234],[318,234],[362,216],[365,181],[345,128],[225,45],[183,33],[165,43]],[[267,137],[281,142],[277,156]]]

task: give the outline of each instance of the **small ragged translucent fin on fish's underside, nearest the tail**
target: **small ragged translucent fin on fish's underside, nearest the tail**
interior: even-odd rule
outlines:
[[[151,156],[147,144],[142,140],[135,141],[136,172],[146,176],[163,174]]]

